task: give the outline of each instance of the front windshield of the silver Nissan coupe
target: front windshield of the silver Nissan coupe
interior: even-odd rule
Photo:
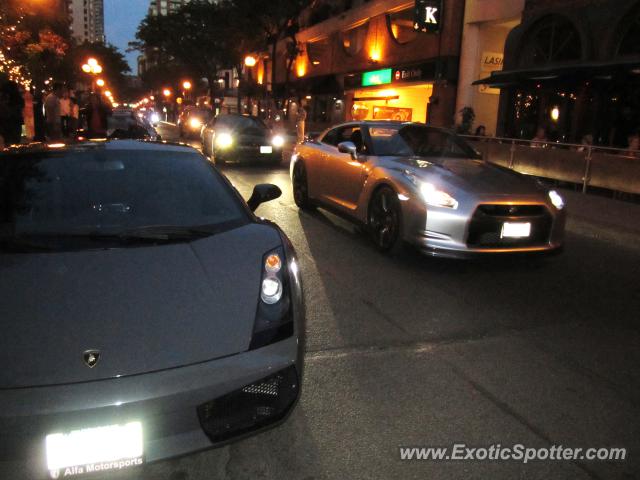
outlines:
[[[461,138],[421,125],[370,127],[373,154],[379,156],[477,159],[478,153]]]

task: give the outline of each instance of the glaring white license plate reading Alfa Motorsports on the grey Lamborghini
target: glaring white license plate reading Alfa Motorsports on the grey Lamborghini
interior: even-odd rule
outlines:
[[[143,463],[142,424],[107,425],[47,435],[51,478],[123,470]]]

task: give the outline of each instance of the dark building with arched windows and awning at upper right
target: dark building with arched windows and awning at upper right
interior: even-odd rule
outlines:
[[[527,0],[506,39],[497,132],[626,147],[640,131],[640,1]]]

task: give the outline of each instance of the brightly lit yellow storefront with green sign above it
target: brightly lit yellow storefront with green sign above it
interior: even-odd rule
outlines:
[[[434,91],[455,83],[455,58],[371,70],[345,78],[345,107],[353,120],[397,120],[429,123]]]

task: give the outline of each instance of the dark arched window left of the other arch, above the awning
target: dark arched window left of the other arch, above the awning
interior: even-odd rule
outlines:
[[[580,33],[566,18],[553,15],[539,21],[524,37],[521,65],[548,65],[582,58]]]

